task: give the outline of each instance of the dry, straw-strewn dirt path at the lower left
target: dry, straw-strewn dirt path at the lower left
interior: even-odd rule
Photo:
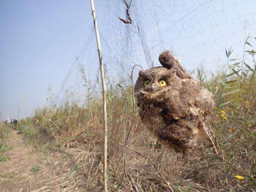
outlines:
[[[0,162],[0,192],[77,191],[73,176],[75,164],[65,152],[47,156],[26,144],[22,135],[11,130],[5,152],[9,157]]]

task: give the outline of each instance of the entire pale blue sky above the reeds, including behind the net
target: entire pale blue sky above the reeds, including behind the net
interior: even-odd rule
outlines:
[[[125,13],[121,1],[95,0],[95,7],[104,63],[113,81],[124,71],[130,73],[134,64],[146,68],[146,57],[158,65],[159,53],[167,48],[188,70],[203,62],[216,71],[225,62],[226,47],[235,48],[234,57],[239,58],[244,34],[256,36],[256,0],[134,1],[130,26],[117,18]],[[7,114],[17,119],[19,105],[21,117],[46,106],[48,85],[53,94],[74,86],[81,79],[80,62],[88,79],[95,81],[98,57],[92,27],[89,0],[0,1],[2,119]]]

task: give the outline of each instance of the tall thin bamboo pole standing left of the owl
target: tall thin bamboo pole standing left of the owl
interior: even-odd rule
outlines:
[[[103,178],[104,178],[104,192],[108,191],[108,183],[107,183],[107,148],[108,148],[108,125],[107,125],[107,91],[106,91],[106,83],[104,76],[104,67],[102,62],[102,53],[101,53],[101,40],[98,31],[98,25],[96,20],[96,13],[94,7],[94,0],[90,0],[92,7],[92,15],[94,20],[94,29],[96,34],[99,60],[100,60],[100,68],[101,68],[101,84],[102,84],[102,99],[103,99],[103,115],[104,115],[104,162],[103,162]]]

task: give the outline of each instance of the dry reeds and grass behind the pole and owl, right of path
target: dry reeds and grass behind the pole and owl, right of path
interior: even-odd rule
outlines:
[[[255,60],[252,60],[254,68],[243,65],[241,73],[241,63],[230,60],[230,54],[231,50],[227,50],[227,60],[233,64],[227,64],[224,73],[206,80],[203,70],[197,71],[202,85],[215,95],[213,115],[221,149],[219,155],[211,149],[195,150],[183,158],[170,152],[141,124],[131,87],[114,89],[109,86],[110,191],[169,191],[147,159],[124,149],[120,143],[151,159],[174,191],[237,192],[256,189]],[[252,58],[254,54],[251,53]],[[32,145],[41,146],[37,147],[38,150],[51,153],[58,148],[75,162],[72,177],[66,178],[65,185],[58,184],[58,190],[73,185],[84,191],[102,191],[102,124],[101,99],[90,95],[84,107],[66,102],[62,106],[38,109],[33,118],[21,120],[18,129]],[[67,182],[68,179],[72,182]]]

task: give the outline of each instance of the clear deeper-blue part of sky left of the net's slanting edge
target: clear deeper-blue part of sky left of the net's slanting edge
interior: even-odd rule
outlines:
[[[0,2],[0,113],[17,118],[60,88],[92,26],[89,1]],[[100,7],[97,6],[100,11]]]

